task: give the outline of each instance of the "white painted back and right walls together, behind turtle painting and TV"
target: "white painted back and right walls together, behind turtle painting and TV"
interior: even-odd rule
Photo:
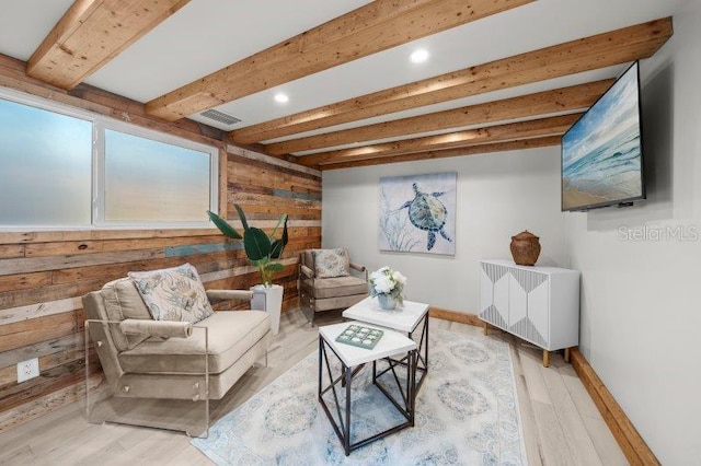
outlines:
[[[582,271],[581,350],[665,465],[701,464],[699,25],[701,1],[688,0],[641,65],[648,199],[635,207],[561,213],[559,149],[323,174],[324,247],[402,270],[409,298],[436,306],[475,312],[476,261],[508,258],[524,229],[539,234],[539,263]],[[456,256],[380,253],[379,178],[447,171],[458,172]]]

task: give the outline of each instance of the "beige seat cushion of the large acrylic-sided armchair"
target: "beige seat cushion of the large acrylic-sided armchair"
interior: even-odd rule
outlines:
[[[219,374],[271,331],[271,318],[262,311],[216,312],[198,322],[189,338],[151,338],[122,352],[122,369],[139,374],[204,374],[205,334],[198,327],[209,333],[209,373]]]

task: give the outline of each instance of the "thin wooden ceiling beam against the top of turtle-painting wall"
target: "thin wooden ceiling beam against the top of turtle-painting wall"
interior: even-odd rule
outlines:
[[[321,165],[321,171],[356,168],[359,166],[382,165],[387,163],[416,162],[421,160],[446,159],[451,156],[479,155],[492,152],[517,151],[522,149],[545,148],[560,145],[560,136],[545,136],[542,138],[521,139],[506,142],[492,142],[486,144],[471,145],[467,148],[447,149],[443,151],[414,152],[411,154],[392,155],[381,159],[366,159],[359,161],[340,162]]]

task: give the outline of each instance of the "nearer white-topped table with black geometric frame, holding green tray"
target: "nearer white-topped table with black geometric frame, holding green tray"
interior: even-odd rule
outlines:
[[[372,349],[358,348],[336,341],[336,338],[353,324],[361,325],[364,327],[379,328],[361,322],[345,322],[342,324],[319,327],[319,403],[326,412],[326,417],[329,418],[329,421],[331,421],[336,435],[338,435],[346,456],[348,456],[353,450],[359,448],[375,440],[398,432],[404,428],[414,427],[414,413],[416,406],[416,342],[398,331],[388,329],[383,329],[384,334]],[[334,376],[329,360],[330,354],[334,354],[337,360],[341,361],[341,375]],[[405,364],[399,364],[395,360],[391,359],[391,357],[399,358],[400,356],[406,360]],[[377,361],[381,359],[388,360],[389,368],[378,373]],[[353,417],[353,412],[350,409],[350,386],[353,384],[353,374],[355,370],[363,368],[365,364],[370,362],[372,363],[372,384],[375,384],[388,400],[394,405],[405,421],[382,432],[352,443],[350,419]],[[406,369],[405,386],[402,386],[400,377],[397,374],[398,366]],[[323,386],[324,368],[329,380],[327,386]],[[380,377],[386,373],[391,373],[393,375],[393,377],[387,376],[384,378],[389,378],[390,382],[397,384],[395,388],[398,389],[401,399],[397,399],[395,396],[392,396],[388,388],[382,385],[383,382]],[[341,387],[337,387],[337,385],[341,385]],[[356,389],[358,387],[356,387]],[[341,396],[343,394],[343,392],[341,392],[342,389],[345,389],[344,397]],[[334,419],[326,400],[324,400],[324,395],[330,391],[332,392],[333,397],[329,401],[333,401],[331,405],[333,405],[332,408],[337,413],[340,422]]]

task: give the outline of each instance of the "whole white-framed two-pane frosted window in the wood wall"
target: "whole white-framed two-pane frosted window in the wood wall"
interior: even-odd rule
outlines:
[[[216,148],[0,90],[0,228],[208,226],[217,179]]]

